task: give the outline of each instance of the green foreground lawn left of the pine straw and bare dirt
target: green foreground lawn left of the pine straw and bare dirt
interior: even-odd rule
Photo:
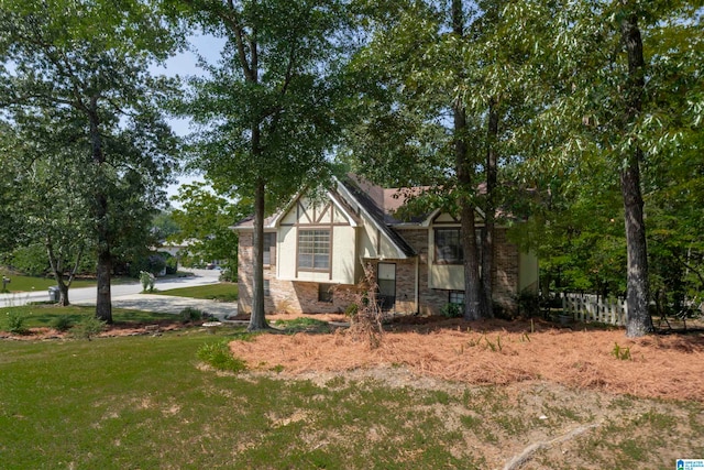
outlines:
[[[461,436],[419,406],[422,394],[201,370],[212,339],[0,342],[3,467],[483,468],[452,455]],[[404,429],[409,418],[419,425]]]

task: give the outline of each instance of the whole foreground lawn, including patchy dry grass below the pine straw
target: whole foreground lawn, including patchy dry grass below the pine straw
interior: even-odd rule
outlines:
[[[204,345],[238,338],[242,330],[193,328],[161,337],[0,341],[1,467],[501,468],[535,440],[598,423],[590,409],[605,409],[606,420],[539,450],[529,468],[674,468],[674,453],[704,455],[701,403],[608,395],[592,403],[591,392],[544,384],[519,393],[420,379],[392,386],[374,375],[312,382],[277,372],[219,373],[199,363]]]

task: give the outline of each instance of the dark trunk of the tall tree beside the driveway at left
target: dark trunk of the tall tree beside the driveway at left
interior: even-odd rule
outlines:
[[[110,276],[112,273],[112,254],[110,252],[110,228],[108,226],[108,196],[103,166],[106,163],[100,138],[97,98],[90,102],[90,145],[92,163],[96,166],[94,218],[97,232],[98,263],[96,266],[97,296],[96,317],[100,320],[112,323],[112,297],[110,293]]]

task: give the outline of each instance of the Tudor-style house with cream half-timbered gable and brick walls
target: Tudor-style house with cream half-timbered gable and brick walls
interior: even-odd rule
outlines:
[[[371,263],[384,309],[438,314],[464,300],[460,221],[433,211],[414,221],[393,212],[404,204],[399,189],[353,178],[312,199],[300,194],[264,220],[265,311],[344,311],[354,285]],[[477,226],[483,223],[477,215]],[[252,309],[253,220],[239,232],[239,311]],[[538,261],[495,231],[494,299],[515,308],[521,291],[538,289]],[[349,287],[349,288],[348,288]]]

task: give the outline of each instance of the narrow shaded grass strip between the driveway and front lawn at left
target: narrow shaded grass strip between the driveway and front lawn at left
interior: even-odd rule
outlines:
[[[94,316],[96,307],[69,305],[59,307],[54,304],[22,305],[18,307],[0,308],[0,330],[7,331],[6,317],[8,313],[14,313],[24,318],[25,328],[41,328],[52,326],[59,317],[66,317],[72,325],[76,325],[82,318]],[[176,315],[158,314],[151,311],[128,310],[124,308],[113,308],[112,319],[116,324],[145,323],[160,319],[174,319],[178,321]]]

